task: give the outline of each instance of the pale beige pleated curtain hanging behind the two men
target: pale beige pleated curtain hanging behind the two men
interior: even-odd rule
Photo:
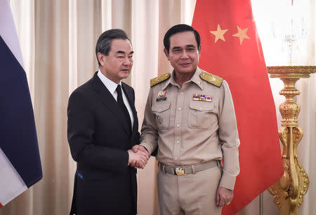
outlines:
[[[304,49],[308,52],[306,64],[315,64],[316,8],[313,0],[304,1],[308,1],[312,20],[309,48]],[[98,69],[94,53],[98,36],[107,29],[121,28],[131,38],[134,66],[126,82],[136,90],[136,109],[141,123],[150,78],[171,69],[163,53],[164,33],[172,25],[191,24],[195,0],[11,0],[10,3],[34,104],[44,177],[1,209],[0,215],[68,214],[75,162],[67,144],[67,99]],[[263,41],[264,50],[273,50],[269,44]],[[265,51],[265,55],[268,62],[270,54]],[[300,125],[305,134],[298,153],[311,181],[300,209],[300,214],[304,215],[316,214],[313,204],[316,172],[312,169],[315,163],[315,81],[314,75],[299,84]],[[274,92],[281,89],[280,83],[272,83]],[[276,103],[279,101],[276,99]],[[159,214],[156,171],[154,158],[150,158],[145,169],[138,171],[140,215]],[[265,192],[264,199],[265,214],[278,214],[272,195]],[[258,198],[238,214],[258,214]]]

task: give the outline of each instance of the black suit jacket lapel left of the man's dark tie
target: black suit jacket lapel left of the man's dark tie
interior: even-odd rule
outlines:
[[[123,125],[126,134],[129,134],[130,133],[129,130],[131,130],[131,128],[128,125],[126,125],[125,119],[124,119],[124,114],[122,113],[121,108],[117,104],[117,101],[114,99],[113,95],[110,93],[109,90],[107,90],[105,85],[102,83],[100,78],[97,76],[97,74],[98,74],[98,72],[96,72],[96,74],[94,74],[94,76],[93,76],[93,88],[94,88],[94,90],[96,90],[96,92],[98,92],[98,94],[100,95],[101,102],[105,106],[107,106],[107,108],[110,109],[110,111],[112,111],[112,113],[114,113],[115,116],[117,116],[118,120]]]

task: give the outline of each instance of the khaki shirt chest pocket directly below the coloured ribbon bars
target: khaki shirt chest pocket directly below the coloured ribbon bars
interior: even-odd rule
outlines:
[[[212,125],[214,105],[211,102],[190,101],[187,124],[191,128],[206,128]]]

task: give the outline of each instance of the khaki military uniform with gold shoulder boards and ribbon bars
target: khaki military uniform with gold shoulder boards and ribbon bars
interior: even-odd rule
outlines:
[[[171,167],[193,165],[195,169],[201,163],[223,160],[221,175],[217,166],[180,176],[160,168],[157,183],[161,213],[204,214],[203,211],[213,209],[218,212],[217,187],[233,190],[239,174],[239,137],[228,83],[197,68],[182,88],[174,81],[173,74],[152,79],[151,86],[141,145],[150,153],[159,146],[157,160]],[[202,202],[199,197],[206,200]]]

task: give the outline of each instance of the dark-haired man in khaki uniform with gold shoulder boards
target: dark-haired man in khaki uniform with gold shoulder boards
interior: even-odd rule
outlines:
[[[161,214],[220,214],[232,200],[239,174],[228,83],[197,67],[201,45],[192,27],[171,27],[164,47],[174,70],[151,80],[141,144],[133,150],[152,153],[159,146]]]

